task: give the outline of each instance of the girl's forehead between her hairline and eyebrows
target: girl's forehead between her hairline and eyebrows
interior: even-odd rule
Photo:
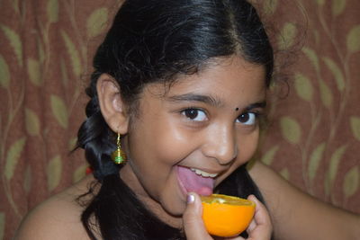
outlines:
[[[214,61],[191,76],[179,76],[171,86],[151,84],[150,93],[165,99],[193,93],[211,95],[222,103],[262,101],[266,93],[265,67],[238,57]]]

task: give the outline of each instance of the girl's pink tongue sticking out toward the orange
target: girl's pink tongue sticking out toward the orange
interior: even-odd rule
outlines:
[[[211,177],[202,177],[183,166],[178,166],[177,169],[179,180],[187,192],[193,191],[204,196],[212,194],[214,180]]]

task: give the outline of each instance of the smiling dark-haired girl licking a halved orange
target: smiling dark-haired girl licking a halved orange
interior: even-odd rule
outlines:
[[[356,239],[356,216],[262,164],[249,167],[260,191],[247,173],[273,66],[245,0],[126,1],[94,57],[78,132],[94,177],[32,210],[16,239],[212,239],[199,195],[220,192],[257,203],[247,234],[232,239],[265,240],[260,191],[277,239]]]

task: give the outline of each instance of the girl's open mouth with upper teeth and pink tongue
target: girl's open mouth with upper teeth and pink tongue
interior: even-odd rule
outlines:
[[[193,191],[197,194],[208,196],[214,188],[214,178],[218,173],[207,173],[200,169],[177,166],[177,179],[184,194]]]

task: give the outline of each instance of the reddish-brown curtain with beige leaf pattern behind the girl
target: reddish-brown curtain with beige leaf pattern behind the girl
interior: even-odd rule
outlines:
[[[256,2],[289,86],[272,97],[259,157],[320,200],[360,213],[360,2]],[[69,151],[94,49],[120,4],[0,0],[0,239],[84,176],[82,150]]]

